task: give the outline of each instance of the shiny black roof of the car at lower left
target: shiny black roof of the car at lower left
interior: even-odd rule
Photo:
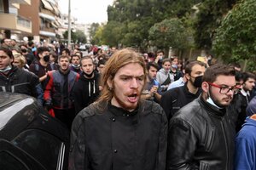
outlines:
[[[0,139],[12,139],[25,129],[40,129],[69,141],[69,131],[26,94],[0,92]]]

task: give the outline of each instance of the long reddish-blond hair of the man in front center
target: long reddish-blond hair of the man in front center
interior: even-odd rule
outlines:
[[[144,63],[143,57],[137,54],[131,48],[124,48],[115,52],[107,61],[105,65],[105,71],[102,74],[102,94],[98,101],[109,101],[113,98],[113,90],[108,87],[108,79],[113,81],[113,78],[117,71],[125,65],[137,63],[142,65],[143,72],[146,75],[146,65]],[[144,82],[146,82],[146,77],[144,77]]]

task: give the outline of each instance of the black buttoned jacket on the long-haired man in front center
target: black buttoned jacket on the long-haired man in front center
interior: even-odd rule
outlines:
[[[166,115],[155,102],[133,112],[91,104],[73,121],[69,170],[165,170],[166,144]]]

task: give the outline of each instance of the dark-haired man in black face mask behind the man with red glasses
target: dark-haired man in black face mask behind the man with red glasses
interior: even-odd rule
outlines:
[[[201,94],[201,77],[206,71],[206,65],[201,61],[190,61],[185,65],[187,82],[182,87],[172,88],[162,95],[160,105],[170,121],[172,116],[184,105],[198,98]]]

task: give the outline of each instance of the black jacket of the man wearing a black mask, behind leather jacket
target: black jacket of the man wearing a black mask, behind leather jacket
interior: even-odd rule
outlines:
[[[161,97],[160,105],[166,112],[167,119],[170,121],[172,116],[184,105],[187,105],[201,94],[201,88],[196,94],[191,94],[187,83],[182,87],[172,88]]]

